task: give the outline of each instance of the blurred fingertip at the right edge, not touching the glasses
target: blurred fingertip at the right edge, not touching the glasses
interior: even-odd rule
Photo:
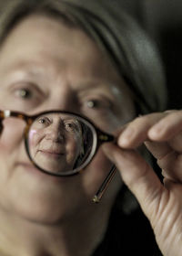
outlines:
[[[166,112],[166,116],[148,131],[154,141],[167,141],[182,131],[182,111]]]

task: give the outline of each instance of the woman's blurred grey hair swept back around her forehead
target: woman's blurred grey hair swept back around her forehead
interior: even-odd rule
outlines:
[[[136,24],[136,20],[124,13],[119,0],[9,0],[9,2],[12,11],[19,3],[19,8],[24,5],[27,13],[28,9],[29,13],[34,13],[38,9],[46,9],[51,3],[54,3],[55,9],[56,5],[61,4],[64,12],[96,41],[98,47],[126,80],[140,112],[165,109],[166,81],[157,48],[143,29]]]

